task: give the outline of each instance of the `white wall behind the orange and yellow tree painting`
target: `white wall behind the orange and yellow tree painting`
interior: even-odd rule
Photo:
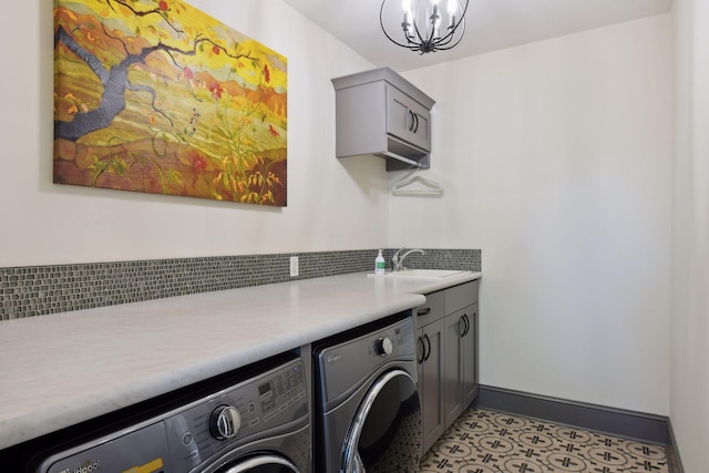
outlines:
[[[383,161],[335,158],[330,78],[371,64],[279,0],[191,4],[288,58],[288,207],[52,184],[52,2],[30,0],[0,18],[0,267],[386,246]]]

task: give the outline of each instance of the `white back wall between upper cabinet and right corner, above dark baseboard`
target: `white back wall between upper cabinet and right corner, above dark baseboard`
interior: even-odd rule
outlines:
[[[390,243],[482,249],[481,382],[667,414],[670,16],[404,75],[444,195],[392,197]]]

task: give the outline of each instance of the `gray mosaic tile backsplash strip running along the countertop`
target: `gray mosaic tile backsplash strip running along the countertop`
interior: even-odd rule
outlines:
[[[388,268],[395,249],[384,249]],[[413,268],[480,271],[479,249],[425,249]],[[290,277],[290,257],[299,273]],[[373,270],[376,249],[0,268],[0,320]]]

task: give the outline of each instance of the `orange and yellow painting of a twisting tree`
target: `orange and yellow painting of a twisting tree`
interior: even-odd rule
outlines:
[[[287,60],[181,0],[54,0],[54,182],[287,204]]]

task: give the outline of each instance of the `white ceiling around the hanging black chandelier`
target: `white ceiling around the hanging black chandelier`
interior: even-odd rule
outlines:
[[[450,51],[420,55],[391,43],[381,0],[284,0],[376,66],[404,72],[474,54],[664,13],[672,0],[470,0],[465,35]],[[400,0],[387,0],[401,4]],[[387,8],[389,10],[389,8]],[[399,28],[401,18],[387,22]],[[387,20],[387,19],[386,19]]]

